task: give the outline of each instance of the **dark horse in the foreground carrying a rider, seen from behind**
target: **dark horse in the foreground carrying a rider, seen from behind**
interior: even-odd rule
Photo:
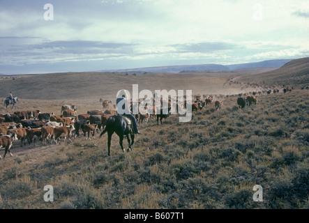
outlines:
[[[100,137],[102,137],[105,132],[107,132],[107,135],[108,135],[108,141],[107,141],[108,155],[110,155],[110,141],[112,139],[112,134],[114,134],[114,132],[116,132],[116,134],[118,134],[119,136],[119,144],[123,152],[125,150],[123,149],[122,141],[123,141],[123,136],[125,135],[128,139],[128,144],[129,144],[128,151],[133,149],[132,145],[134,143],[134,134],[133,134],[132,126],[131,124],[128,123],[126,118],[124,118],[123,116],[111,116],[110,118],[108,118],[105,129],[100,134]],[[132,141],[130,141],[129,134],[130,134]]]

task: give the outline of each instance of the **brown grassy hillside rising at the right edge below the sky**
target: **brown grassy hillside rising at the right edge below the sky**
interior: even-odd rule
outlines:
[[[281,68],[258,75],[243,76],[240,82],[256,82],[267,85],[308,85],[309,57],[289,61]]]

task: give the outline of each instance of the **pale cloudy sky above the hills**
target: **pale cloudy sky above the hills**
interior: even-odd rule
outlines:
[[[308,0],[0,0],[2,74],[306,56]]]

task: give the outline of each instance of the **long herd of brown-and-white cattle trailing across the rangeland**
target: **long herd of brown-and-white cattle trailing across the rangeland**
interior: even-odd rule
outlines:
[[[282,92],[286,93],[291,89],[283,89]],[[277,93],[275,89],[273,93]],[[241,93],[236,95],[225,95],[225,98],[236,97],[237,105],[243,108],[246,105],[255,105],[257,103],[257,95],[261,93]],[[269,94],[269,92],[267,92]],[[218,100],[213,102],[213,98]],[[223,97],[219,95],[194,95],[194,102],[191,103],[192,111],[198,111],[203,107],[209,105],[215,106],[218,110],[223,105]],[[94,134],[99,130],[103,130],[110,116],[116,114],[116,105],[112,105],[110,100],[100,99],[103,105],[102,110],[88,111],[86,114],[76,114],[77,108],[72,105],[63,105],[61,107],[61,115],[54,113],[41,113],[39,110],[33,111],[18,111],[13,114],[0,114],[0,148],[4,148],[5,153],[10,153],[10,148],[13,146],[14,140],[20,140],[20,146],[25,146],[28,142],[30,148],[35,146],[36,139],[39,139],[43,145],[47,141],[52,144],[59,144],[60,138],[68,138],[70,141],[73,137],[80,137],[80,132],[84,134],[85,139],[91,139]],[[161,101],[162,102],[162,101]],[[170,105],[169,99],[169,105]],[[131,102],[132,105],[132,102]],[[183,107],[186,107],[186,100],[183,101]],[[189,105],[189,104],[188,104]],[[162,106],[162,104],[161,104]],[[112,107],[112,109],[110,109]],[[146,107],[145,107],[146,109]],[[157,123],[162,118],[167,118],[167,115],[158,114],[156,108],[153,106],[153,114],[139,114],[136,116],[137,121],[142,124],[143,121],[147,122],[149,118],[156,117]],[[27,142],[26,142],[27,141]],[[12,156],[12,154],[10,153]],[[0,155],[0,160],[2,159]]]

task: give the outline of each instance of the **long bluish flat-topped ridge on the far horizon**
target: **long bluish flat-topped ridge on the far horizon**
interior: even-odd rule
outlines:
[[[199,64],[199,65],[184,65],[184,66],[158,66],[149,68],[132,68],[132,69],[115,69],[115,70],[98,70],[98,72],[128,72],[128,74],[140,75],[143,72],[203,72],[206,71],[224,71],[224,70],[239,70],[248,68],[280,68],[285,63],[292,61],[292,59],[278,59],[261,61],[257,63],[240,63],[232,65],[221,64]]]

